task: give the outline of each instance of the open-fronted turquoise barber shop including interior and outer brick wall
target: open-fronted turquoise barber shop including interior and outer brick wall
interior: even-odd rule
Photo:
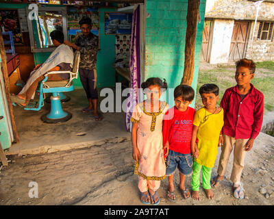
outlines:
[[[194,89],[205,8],[201,0]],[[181,83],[187,13],[188,0],[0,1],[5,155],[129,141],[132,113],[116,112],[116,105],[137,103],[138,88],[149,77],[165,79],[168,88]],[[123,96],[126,88],[133,92]],[[173,106],[173,99],[166,101]],[[105,110],[111,104],[114,111]]]

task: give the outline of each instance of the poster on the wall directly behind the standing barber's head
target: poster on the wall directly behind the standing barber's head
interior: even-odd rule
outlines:
[[[76,42],[77,36],[81,33],[79,21],[83,16],[88,16],[92,21],[92,34],[99,37],[99,12],[97,8],[90,7],[67,7],[69,40]]]

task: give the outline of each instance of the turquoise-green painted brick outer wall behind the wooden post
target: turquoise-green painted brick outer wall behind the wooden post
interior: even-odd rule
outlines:
[[[166,79],[169,88],[181,83],[184,74],[184,45],[186,37],[186,15],[188,0],[147,0],[147,25],[145,49],[145,79],[160,77]],[[196,91],[199,72],[203,21],[206,0],[201,0],[195,44],[195,70],[192,88]],[[173,99],[168,100],[173,106]],[[192,102],[192,107],[195,100]]]

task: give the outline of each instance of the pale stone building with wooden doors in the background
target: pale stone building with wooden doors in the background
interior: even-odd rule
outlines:
[[[207,1],[201,61],[274,61],[273,12],[273,0]]]

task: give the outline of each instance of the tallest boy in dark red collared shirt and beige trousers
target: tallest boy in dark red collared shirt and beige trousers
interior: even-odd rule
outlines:
[[[260,133],[264,114],[264,95],[254,88],[251,79],[254,77],[256,65],[252,60],[242,59],[236,62],[235,79],[237,85],[228,88],[223,95],[221,107],[224,111],[222,152],[219,161],[218,176],[212,179],[215,187],[223,179],[229,155],[234,148],[234,163],[231,174],[235,198],[244,198],[243,184],[240,176],[244,168],[247,151]]]

